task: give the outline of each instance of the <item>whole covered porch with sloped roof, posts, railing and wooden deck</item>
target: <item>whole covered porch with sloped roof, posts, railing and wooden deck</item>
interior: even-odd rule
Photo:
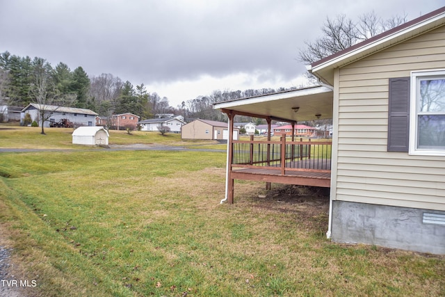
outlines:
[[[244,179],[270,183],[330,187],[331,141],[303,141],[295,137],[297,121],[332,118],[333,92],[327,86],[315,86],[258,97],[220,102],[220,109],[229,118],[227,142],[226,197],[234,202],[234,180]],[[292,135],[283,134],[266,140],[233,140],[234,117],[245,115],[264,118],[271,131],[272,120],[289,122]],[[264,138],[264,137],[263,137]]]

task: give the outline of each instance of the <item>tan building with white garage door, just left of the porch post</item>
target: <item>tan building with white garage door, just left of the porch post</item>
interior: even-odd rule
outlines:
[[[194,120],[181,128],[182,139],[227,139],[227,122],[213,120]],[[238,139],[238,129],[234,129],[234,139]]]

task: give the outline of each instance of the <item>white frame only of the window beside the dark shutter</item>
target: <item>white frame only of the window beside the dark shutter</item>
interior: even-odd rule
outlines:
[[[410,98],[410,148],[408,154],[421,156],[445,156],[444,150],[425,150],[417,148],[418,133],[417,133],[417,119],[418,117],[418,98],[420,97],[420,83],[421,79],[445,79],[445,69],[440,70],[422,70],[411,72],[411,98]],[[435,113],[437,115],[445,115],[445,112]]]

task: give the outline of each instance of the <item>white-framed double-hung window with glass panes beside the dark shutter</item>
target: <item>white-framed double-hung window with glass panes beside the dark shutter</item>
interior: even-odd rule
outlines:
[[[410,154],[445,156],[445,70],[412,72]]]

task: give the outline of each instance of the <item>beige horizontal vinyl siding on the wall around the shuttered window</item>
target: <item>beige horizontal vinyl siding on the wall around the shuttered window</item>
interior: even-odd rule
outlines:
[[[339,70],[335,200],[445,211],[445,157],[387,152],[388,84],[445,69],[445,27]]]

